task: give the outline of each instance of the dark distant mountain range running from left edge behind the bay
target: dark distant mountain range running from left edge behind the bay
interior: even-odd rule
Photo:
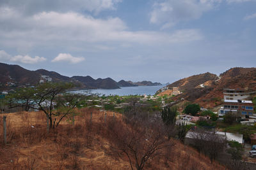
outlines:
[[[116,82],[112,78],[93,79],[91,76],[63,76],[54,71],[38,69],[30,71],[18,65],[0,63],[0,89],[10,89],[12,87],[33,86],[44,80],[42,76],[49,76],[52,81],[70,81],[79,85],[79,89],[118,89],[120,87],[134,87],[141,85],[161,85],[151,81],[132,82],[121,80]]]

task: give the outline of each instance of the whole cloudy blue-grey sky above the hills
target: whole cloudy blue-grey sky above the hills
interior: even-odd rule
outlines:
[[[256,65],[256,0],[1,0],[0,62],[170,82]]]

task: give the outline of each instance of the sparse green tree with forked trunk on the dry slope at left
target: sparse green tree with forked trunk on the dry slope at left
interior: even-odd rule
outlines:
[[[64,117],[76,114],[74,108],[79,106],[83,96],[78,94],[66,93],[75,85],[72,83],[52,83],[47,82],[35,88],[18,89],[10,94],[7,99],[10,107],[25,106],[40,110],[49,118],[50,127],[54,128],[60,124]]]

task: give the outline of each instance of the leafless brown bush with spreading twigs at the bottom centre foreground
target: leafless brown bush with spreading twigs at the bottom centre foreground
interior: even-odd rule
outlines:
[[[160,120],[134,120],[132,124],[109,122],[108,136],[113,153],[125,154],[134,169],[143,169],[148,160],[160,155],[164,148],[172,146],[167,139],[167,129]]]

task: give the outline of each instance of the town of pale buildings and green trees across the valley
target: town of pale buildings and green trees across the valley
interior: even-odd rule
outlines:
[[[40,84],[43,81],[51,83],[49,76],[42,76]],[[28,87],[34,88],[34,87]],[[16,93],[19,93],[17,91]],[[72,93],[72,92],[70,92]],[[223,99],[221,105],[214,108],[203,108],[199,104],[193,104],[185,101],[183,98],[175,99],[182,94],[178,87],[164,87],[154,96],[104,96],[100,94],[91,94],[88,91],[83,94],[85,98],[79,101],[77,108],[92,108],[100,112],[110,111],[115,114],[127,117],[129,112],[140,110],[138,112],[147,113],[148,117],[162,117],[166,108],[172,108],[175,111],[173,120],[178,127],[184,126],[186,129],[183,134],[173,136],[180,139],[185,145],[198,148],[198,152],[204,152],[212,159],[218,160],[223,164],[228,164],[230,160],[252,162],[250,167],[256,162],[256,91],[246,89],[223,89]],[[14,95],[14,96],[13,96]],[[20,96],[21,94],[19,94]],[[8,96],[11,96],[8,97]],[[30,99],[29,108],[26,108],[28,101],[26,97],[23,100],[13,101],[15,99],[14,90],[4,91],[1,94],[1,113],[13,113],[20,111],[38,111],[35,101]],[[17,98],[18,99],[18,98]],[[253,100],[248,100],[253,99]],[[32,104],[33,103],[33,104]],[[28,103],[27,103],[28,104]],[[52,103],[53,108],[57,107],[56,102]],[[44,101],[43,107],[47,107],[49,101]],[[142,113],[141,112],[141,113]],[[212,138],[214,134],[214,138]],[[218,148],[214,148],[214,153],[207,153],[202,147],[202,142],[206,146],[211,146],[208,141],[216,140]],[[227,142],[227,144],[225,144]],[[207,144],[208,143],[208,144]]]

